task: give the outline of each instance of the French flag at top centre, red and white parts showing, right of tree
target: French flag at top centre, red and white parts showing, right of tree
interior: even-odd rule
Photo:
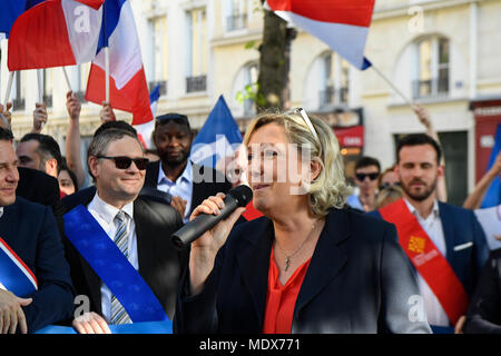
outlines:
[[[315,36],[356,68],[364,58],[365,41],[375,0],[266,0],[265,8]]]

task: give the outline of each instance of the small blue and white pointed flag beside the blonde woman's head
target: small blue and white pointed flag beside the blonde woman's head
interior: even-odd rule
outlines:
[[[193,141],[190,159],[197,165],[215,168],[217,160],[233,156],[240,144],[238,125],[220,96]]]

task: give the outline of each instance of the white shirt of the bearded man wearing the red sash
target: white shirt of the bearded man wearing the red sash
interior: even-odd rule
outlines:
[[[439,202],[433,202],[432,212],[428,216],[428,218],[423,218],[420,212],[404,198],[405,204],[409,207],[409,210],[418,218],[421,227],[426,231],[428,236],[430,236],[431,240],[435,245],[436,249],[442,254],[445,258],[446,247],[445,247],[445,237],[443,235],[442,220],[439,214]],[[442,305],[436,298],[435,294],[432,291],[428,283],[418,271],[418,286],[420,288],[421,296],[424,300],[424,308],[426,310],[428,323],[430,325],[435,326],[450,326],[449,317],[445,314]]]

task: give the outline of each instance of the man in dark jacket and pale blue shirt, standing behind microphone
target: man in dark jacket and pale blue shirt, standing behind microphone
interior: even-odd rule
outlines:
[[[184,205],[185,222],[205,198],[232,188],[222,172],[189,160],[194,136],[185,115],[157,117],[153,138],[160,160],[148,166],[145,186],[167,191],[173,196],[173,204]]]

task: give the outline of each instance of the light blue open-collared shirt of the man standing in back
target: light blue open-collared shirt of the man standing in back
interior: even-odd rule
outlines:
[[[193,195],[193,166],[188,159],[185,170],[176,179],[171,181],[166,177],[164,169],[161,168],[161,162],[159,162],[160,168],[158,169],[158,180],[157,189],[170,194],[173,197],[181,197],[186,200],[185,214],[183,216],[183,222],[188,222],[189,220],[189,207],[191,206],[191,195]]]

